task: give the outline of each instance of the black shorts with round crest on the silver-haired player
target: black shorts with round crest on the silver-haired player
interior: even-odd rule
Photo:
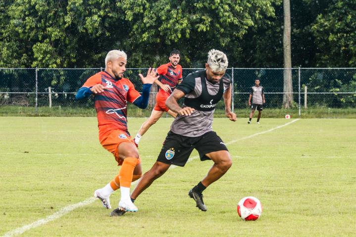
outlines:
[[[169,131],[157,161],[184,166],[194,148],[202,161],[210,159],[205,156],[210,152],[228,151],[216,132],[207,132],[200,137],[186,137]]]

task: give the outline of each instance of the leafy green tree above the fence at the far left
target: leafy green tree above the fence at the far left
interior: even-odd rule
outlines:
[[[3,66],[67,66],[75,44],[65,32],[64,10],[60,1],[13,1],[3,30]]]

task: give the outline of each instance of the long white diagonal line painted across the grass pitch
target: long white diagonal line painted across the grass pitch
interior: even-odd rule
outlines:
[[[266,130],[266,131],[263,131],[263,132],[257,132],[257,133],[254,133],[254,134],[250,135],[250,136],[230,141],[230,142],[226,143],[226,145],[230,145],[230,144],[233,144],[233,143],[238,142],[238,141],[246,140],[246,139],[249,139],[249,138],[264,134],[264,133],[267,133],[267,132],[274,131],[276,129],[288,126],[289,124],[294,123],[294,122],[298,121],[299,119],[300,118],[297,118],[297,119],[294,119],[294,120],[292,120],[290,122],[287,122],[287,123],[285,123],[283,125],[271,128],[269,130]],[[199,158],[199,156],[194,156],[192,158],[189,158],[187,162],[190,162],[190,161],[192,161],[192,160],[194,160],[196,158]],[[177,167],[177,166],[176,165],[171,165],[169,168],[170,169],[174,169],[175,167]],[[136,185],[136,183],[139,182],[140,180],[141,180],[141,178],[139,180],[136,180],[135,182],[132,182],[131,185]],[[7,232],[7,233],[5,233],[5,235],[3,237],[12,237],[12,236],[21,235],[25,231],[28,231],[30,229],[42,226],[44,224],[47,224],[50,221],[54,221],[54,220],[62,217],[63,215],[71,212],[72,210],[77,209],[78,207],[82,207],[82,206],[86,206],[86,205],[92,204],[96,199],[97,198],[95,198],[95,197],[90,197],[90,198],[88,198],[88,199],[86,199],[86,200],[84,200],[82,202],[78,202],[76,204],[65,206],[62,209],[60,209],[59,211],[53,213],[52,215],[50,215],[50,216],[48,216],[48,217],[46,217],[44,219],[40,219],[40,220],[35,221],[35,222],[31,223],[31,224],[28,224],[28,225],[25,225],[25,226],[22,226],[20,228],[17,228],[17,229],[14,229],[12,231]]]

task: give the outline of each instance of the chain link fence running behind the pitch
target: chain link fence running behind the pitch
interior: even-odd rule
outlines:
[[[41,106],[90,107],[75,100],[76,91],[92,75],[103,68],[88,69],[0,69],[0,106],[26,106],[36,110]],[[183,78],[201,68],[183,69]],[[233,82],[234,108],[246,108],[251,87],[260,79],[264,87],[265,108],[281,108],[283,104],[283,68],[228,68],[226,74]],[[292,68],[293,107],[325,106],[329,108],[356,107],[356,68]],[[138,91],[142,82],[138,74],[147,68],[128,68],[125,77]],[[157,86],[151,89],[150,108],[155,103]],[[224,108],[221,101],[218,109]]]

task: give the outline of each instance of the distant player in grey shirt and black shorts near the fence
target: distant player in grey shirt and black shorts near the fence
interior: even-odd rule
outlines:
[[[264,99],[263,86],[259,85],[259,79],[254,80],[254,86],[251,87],[251,93],[249,97],[249,106],[251,106],[251,98],[252,98],[252,106],[250,119],[247,123],[251,123],[252,117],[254,117],[254,111],[258,110],[257,123],[259,123],[259,119],[261,118],[263,104],[266,103]]]

